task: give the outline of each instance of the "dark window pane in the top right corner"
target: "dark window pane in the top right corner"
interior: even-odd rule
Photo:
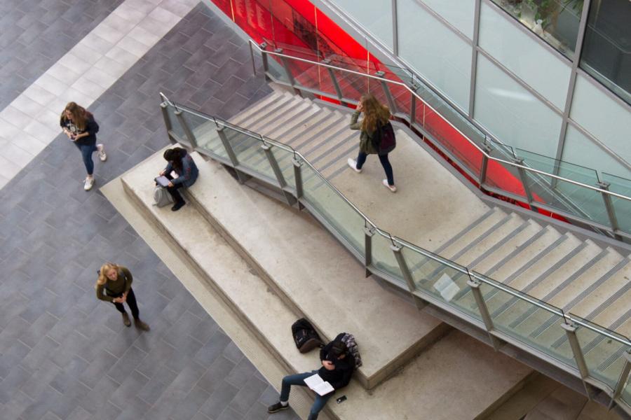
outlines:
[[[631,104],[631,1],[592,1],[581,68]]]

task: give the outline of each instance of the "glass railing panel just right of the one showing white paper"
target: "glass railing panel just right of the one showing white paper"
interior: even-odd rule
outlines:
[[[501,283],[488,277],[480,274],[476,276],[485,279],[480,285],[480,292],[497,330],[542,351],[565,365],[577,368],[574,355],[567,342],[559,346],[553,345],[564,333],[561,325],[565,321],[563,316],[559,315],[561,313],[559,309],[510,289],[508,286],[501,286]]]

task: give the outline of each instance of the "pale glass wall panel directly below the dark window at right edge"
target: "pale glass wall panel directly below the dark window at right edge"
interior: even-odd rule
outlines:
[[[627,162],[631,162],[631,147],[629,147],[631,113],[625,106],[599,89],[596,82],[581,75],[576,77],[570,118],[611,149],[613,153]],[[592,155],[593,163],[587,166],[600,170],[606,168],[597,161],[597,158],[599,156]],[[603,156],[602,159],[606,161],[606,156]]]

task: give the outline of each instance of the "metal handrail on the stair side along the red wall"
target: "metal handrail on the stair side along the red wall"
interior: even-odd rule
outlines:
[[[261,52],[262,54],[267,54],[267,55],[276,55],[276,56],[278,56],[278,57],[285,57],[285,58],[293,59],[293,60],[296,60],[296,61],[299,61],[299,62],[305,62],[305,63],[308,63],[308,64],[315,64],[315,65],[317,65],[317,66],[326,67],[327,69],[334,69],[334,70],[344,71],[344,72],[346,72],[346,73],[356,74],[356,75],[358,75],[358,76],[367,77],[367,78],[372,78],[372,79],[375,79],[375,80],[380,80],[380,81],[383,81],[383,82],[386,82],[386,83],[391,83],[391,84],[393,84],[393,85],[399,85],[399,86],[405,87],[405,89],[407,89],[407,91],[408,91],[408,92],[410,92],[410,93],[411,93],[411,94],[413,94],[413,95],[414,95],[417,99],[419,99],[419,100],[423,103],[423,105],[424,105],[424,106],[428,107],[429,109],[431,109],[432,111],[434,111],[435,113],[437,113],[437,115],[442,116],[442,114],[441,114],[441,113],[439,113],[438,111],[436,111],[436,109],[435,109],[435,108],[433,108],[433,106],[431,106],[430,104],[427,104],[427,103],[423,100],[423,98],[421,98],[418,94],[416,94],[416,92],[414,92],[414,90],[410,89],[410,87],[409,87],[408,85],[406,85],[405,83],[398,82],[398,81],[396,81],[396,80],[390,80],[390,79],[387,79],[387,78],[382,78],[382,77],[379,77],[379,76],[373,76],[372,74],[362,73],[362,72],[360,72],[360,71],[348,70],[348,69],[344,69],[344,68],[341,68],[341,67],[332,66],[331,64],[323,64],[323,63],[314,62],[314,61],[311,61],[311,60],[308,60],[308,59],[304,59],[304,58],[300,58],[300,57],[293,57],[292,55],[286,55],[286,54],[283,54],[282,52],[266,51],[266,50],[263,50],[262,48],[260,48],[260,47],[259,47],[259,45],[257,45],[257,43],[255,43],[255,42],[254,42],[254,41],[252,41],[251,39],[249,40],[249,42],[250,42],[250,44],[251,44],[251,45],[254,45],[254,46],[255,46],[255,48],[257,48],[257,50],[259,50],[259,52]],[[501,159],[501,158],[496,158],[496,157],[494,157],[494,156],[492,156],[492,155],[489,155],[489,153],[487,153],[486,151],[484,151],[484,149],[483,149],[483,148],[481,148],[480,146],[478,146],[478,145],[475,143],[475,141],[471,140],[471,139],[470,139],[470,138],[469,138],[466,134],[464,134],[464,133],[463,133],[463,132],[462,132],[462,131],[458,128],[458,127],[456,127],[456,126],[455,126],[455,125],[454,125],[451,121],[447,120],[446,118],[444,118],[444,120],[445,120],[445,122],[446,122],[449,126],[451,126],[454,130],[456,130],[456,132],[459,132],[459,134],[461,134],[461,135],[462,135],[462,137],[464,137],[464,138],[465,138],[465,139],[466,139],[466,140],[467,140],[467,141],[468,141],[468,142],[469,142],[469,143],[470,143],[473,147],[475,147],[475,148],[477,149],[477,151],[480,151],[480,153],[482,153],[482,155],[484,155],[484,157],[488,158],[489,160],[494,160],[495,162],[499,162],[499,163],[503,163],[503,164],[506,164],[506,165],[510,165],[511,167],[521,168],[521,169],[524,169],[524,170],[526,170],[526,171],[529,171],[529,172],[534,172],[534,173],[539,174],[539,175],[543,175],[543,176],[550,176],[550,178],[557,179],[558,181],[563,181],[563,182],[566,182],[566,183],[571,183],[571,184],[574,184],[574,185],[576,185],[576,186],[580,186],[580,187],[582,187],[582,188],[588,188],[589,190],[597,191],[598,193],[602,193],[602,194],[606,194],[606,195],[611,195],[611,196],[613,196],[613,197],[618,197],[618,198],[623,199],[623,200],[628,200],[628,201],[631,201],[631,197],[627,197],[626,195],[623,195],[623,194],[620,194],[620,193],[614,193],[613,191],[604,190],[604,189],[602,189],[602,188],[598,188],[598,187],[595,187],[595,186],[590,186],[590,185],[588,185],[588,184],[581,183],[581,182],[579,182],[579,181],[574,181],[574,180],[572,180],[572,179],[566,179],[566,178],[564,178],[563,176],[559,176],[559,175],[555,175],[555,174],[550,174],[550,173],[548,173],[548,172],[541,171],[541,170],[539,170],[539,169],[534,169],[534,168],[531,168],[531,167],[527,167],[527,166],[525,166],[525,165],[520,165],[520,164],[517,164],[517,163],[515,163],[515,162],[510,162],[510,161],[508,161],[508,160],[503,160],[503,159]]]

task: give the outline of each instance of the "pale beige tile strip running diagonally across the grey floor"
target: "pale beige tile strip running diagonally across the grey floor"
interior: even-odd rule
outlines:
[[[68,102],[88,107],[199,0],[126,0],[0,111],[0,188],[50,144]]]

